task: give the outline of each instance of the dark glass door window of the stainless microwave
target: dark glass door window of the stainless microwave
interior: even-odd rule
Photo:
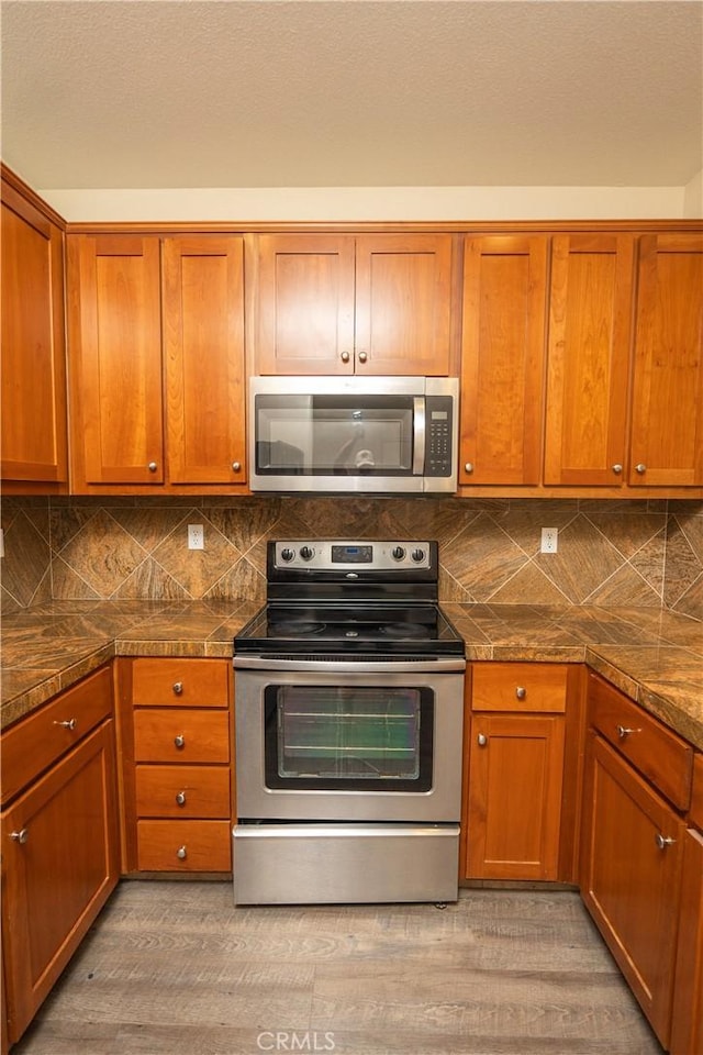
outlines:
[[[410,476],[411,396],[257,396],[256,471]]]

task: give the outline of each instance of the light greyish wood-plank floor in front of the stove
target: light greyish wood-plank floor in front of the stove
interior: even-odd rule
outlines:
[[[12,1055],[660,1055],[570,891],[234,908],[125,881]]]

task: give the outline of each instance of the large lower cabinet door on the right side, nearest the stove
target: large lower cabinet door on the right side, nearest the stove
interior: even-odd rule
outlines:
[[[581,895],[661,1044],[671,997],[682,821],[600,736],[584,789]]]

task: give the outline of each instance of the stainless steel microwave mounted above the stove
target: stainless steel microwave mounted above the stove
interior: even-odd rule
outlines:
[[[253,377],[249,486],[455,491],[458,402],[451,377]]]

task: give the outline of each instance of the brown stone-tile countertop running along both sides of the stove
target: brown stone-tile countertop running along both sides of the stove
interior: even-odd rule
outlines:
[[[703,623],[654,609],[444,603],[467,659],[588,663],[703,751]],[[113,656],[231,658],[260,608],[216,601],[53,601],[3,618],[0,729]]]

